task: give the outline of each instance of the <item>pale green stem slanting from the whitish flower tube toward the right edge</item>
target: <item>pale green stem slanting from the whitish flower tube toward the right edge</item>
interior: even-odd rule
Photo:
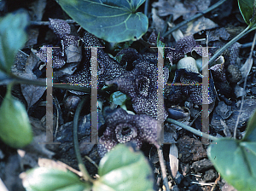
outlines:
[[[230,40],[229,43],[226,43],[221,49],[218,49],[218,51],[212,56],[212,58],[208,62],[208,67],[212,67],[212,62],[215,61],[221,53],[224,52],[225,49],[228,49],[233,43],[236,43],[240,38],[247,35],[247,33],[252,32],[254,29],[251,28],[251,26],[247,26],[245,30],[243,30],[240,34],[236,36],[236,38],[233,38]],[[205,66],[207,67],[207,65]],[[201,70],[203,70],[205,67],[203,67]]]

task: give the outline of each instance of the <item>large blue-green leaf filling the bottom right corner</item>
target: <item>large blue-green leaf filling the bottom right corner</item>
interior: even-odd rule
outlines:
[[[256,188],[256,142],[218,139],[207,153],[221,176],[238,191]]]

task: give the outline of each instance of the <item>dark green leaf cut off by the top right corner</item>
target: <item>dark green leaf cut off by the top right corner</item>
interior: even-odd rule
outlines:
[[[238,6],[243,20],[248,26],[253,26],[255,24],[255,15],[253,14],[253,9],[255,6],[254,0],[238,0]]]

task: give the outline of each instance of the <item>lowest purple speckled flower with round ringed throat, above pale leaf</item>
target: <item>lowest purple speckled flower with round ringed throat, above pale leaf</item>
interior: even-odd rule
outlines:
[[[98,144],[98,153],[101,157],[119,143],[136,142],[140,148],[143,142],[159,147],[157,143],[157,120],[145,114],[131,115],[122,108],[106,109],[106,130]]]

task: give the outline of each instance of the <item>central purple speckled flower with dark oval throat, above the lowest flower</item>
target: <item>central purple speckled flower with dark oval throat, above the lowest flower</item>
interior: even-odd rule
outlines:
[[[118,90],[131,97],[132,107],[138,114],[148,114],[157,119],[158,104],[158,68],[152,60],[137,60],[132,71],[126,71],[118,78],[107,81],[106,84],[116,84]],[[164,84],[169,77],[169,71],[164,67]],[[165,119],[167,112],[164,113]]]

